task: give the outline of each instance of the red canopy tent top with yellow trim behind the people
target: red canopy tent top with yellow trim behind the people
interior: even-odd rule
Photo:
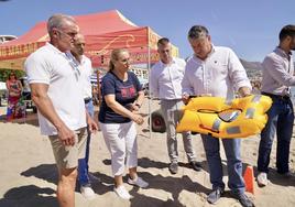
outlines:
[[[86,55],[95,67],[107,67],[113,48],[129,48],[133,64],[159,59],[156,42],[160,39],[149,26],[136,26],[119,11],[74,17],[86,37]],[[46,22],[37,23],[17,40],[0,45],[0,68],[23,69],[25,58],[48,41]],[[178,48],[173,46],[173,55]]]

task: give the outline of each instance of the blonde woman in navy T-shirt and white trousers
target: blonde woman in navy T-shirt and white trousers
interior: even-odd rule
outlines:
[[[128,72],[129,58],[127,50],[112,51],[109,72],[102,78],[102,103],[98,117],[106,144],[111,153],[114,192],[123,199],[131,198],[123,186],[124,163],[129,168],[129,184],[139,187],[149,185],[136,173],[135,123],[143,123],[143,118],[138,111],[142,105],[144,92],[135,74]]]

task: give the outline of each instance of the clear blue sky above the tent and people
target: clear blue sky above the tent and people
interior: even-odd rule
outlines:
[[[192,54],[186,35],[194,24],[209,29],[215,45],[239,57],[262,61],[285,24],[295,23],[294,0],[0,0],[0,34],[22,35],[53,13],[70,15],[119,10],[136,25],[151,26]]]

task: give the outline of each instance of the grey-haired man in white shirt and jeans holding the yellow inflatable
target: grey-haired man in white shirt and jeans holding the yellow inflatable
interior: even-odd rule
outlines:
[[[183,78],[183,99],[189,96],[215,96],[227,99],[234,98],[234,90],[242,97],[250,95],[251,84],[237,55],[228,47],[214,46],[208,30],[203,25],[194,25],[188,32],[188,41],[194,55],[187,61]],[[222,163],[218,138],[201,134],[206,152],[212,192],[207,200],[217,203],[225,192],[222,182]],[[241,140],[222,139],[227,155],[228,186],[242,206],[251,207],[252,201],[244,194],[242,162],[240,157]]]

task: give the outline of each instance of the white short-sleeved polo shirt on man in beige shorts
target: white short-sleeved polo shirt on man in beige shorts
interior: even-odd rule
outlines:
[[[73,67],[65,53],[47,43],[26,58],[24,67],[29,84],[48,85],[47,95],[54,109],[70,130],[86,127],[80,73]],[[42,134],[57,134],[56,128],[40,112],[39,123]]]

